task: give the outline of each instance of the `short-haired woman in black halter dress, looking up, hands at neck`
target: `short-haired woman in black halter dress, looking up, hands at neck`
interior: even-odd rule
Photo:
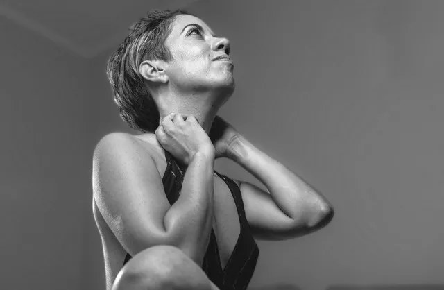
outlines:
[[[229,55],[226,38],[177,10],[148,13],[111,56],[121,117],[144,134],[106,135],[94,152],[108,289],[246,289],[255,239],[332,219],[321,194],[216,116],[234,90]],[[269,192],[214,171],[218,157]]]

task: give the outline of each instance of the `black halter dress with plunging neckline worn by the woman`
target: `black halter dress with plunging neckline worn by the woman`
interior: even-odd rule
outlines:
[[[180,168],[178,162],[168,151],[165,151],[165,157],[167,158],[167,168],[165,169],[162,182],[168,201],[172,205],[179,198],[185,170]],[[244,203],[239,187],[227,176],[223,176],[216,171],[214,172],[228,185],[234,198],[237,214],[239,215],[240,233],[227,264],[222,268],[216,235],[212,229],[207,252],[203,258],[202,269],[208,278],[221,290],[246,289],[255,271],[257,257],[259,257],[259,248],[253,239],[246,220]],[[123,265],[129,259],[131,259],[131,256],[127,253]]]

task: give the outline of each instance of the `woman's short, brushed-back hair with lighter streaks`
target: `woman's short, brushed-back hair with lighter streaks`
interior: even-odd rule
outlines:
[[[139,73],[144,60],[171,60],[165,40],[176,15],[185,10],[152,10],[136,22],[119,48],[110,56],[106,74],[120,116],[136,130],[153,133],[159,126],[159,110]]]

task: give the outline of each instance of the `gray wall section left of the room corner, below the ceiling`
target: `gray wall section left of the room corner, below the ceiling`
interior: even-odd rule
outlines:
[[[87,62],[0,18],[2,289],[81,289]]]

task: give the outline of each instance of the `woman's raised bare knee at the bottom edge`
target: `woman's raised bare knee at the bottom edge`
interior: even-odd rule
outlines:
[[[112,290],[216,290],[202,268],[173,246],[142,250],[123,266]]]

